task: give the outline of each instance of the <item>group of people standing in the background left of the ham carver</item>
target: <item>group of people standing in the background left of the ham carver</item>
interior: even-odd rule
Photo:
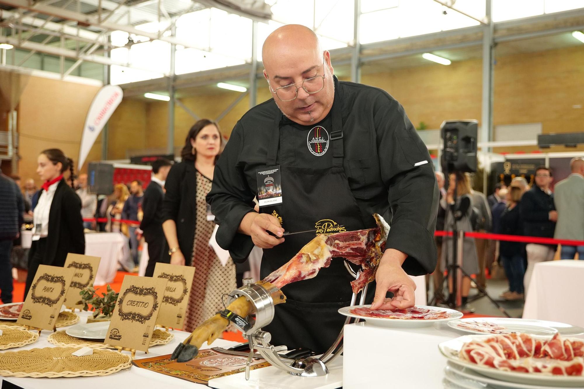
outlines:
[[[19,177],[0,173],[2,303],[12,302],[13,241],[29,217],[33,227],[25,297],[39,265],[63,266],[67,253],[85,253],[84,232],[120,232],[130,252],[120,270],[138,271],[142,238],[148,244],[145,276],[152,276],[158,262],[196,267],[197,286],[185,319],[185,329],[192,331],[223,307],[221,296],[241,286],[249,270],[248,263],[236,265],[231,259],[223,265],[209,245],[215,223],[206,196],[222,142],[216,123],[199,120],[187,134],[181,162],[159,158],[152,163],[146,189],[133,180],[114,185],[109,196],[91,193],[88,175],[75,175],[73,161],[58,149],[44,150],[37,159],[41,188],[33,179],[21,186]]]

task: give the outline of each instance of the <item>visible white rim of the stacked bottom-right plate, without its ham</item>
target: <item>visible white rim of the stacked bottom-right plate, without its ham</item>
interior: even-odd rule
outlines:
[[[458,353],[460,353],[464,343],[471,341],[482,341],[484,339],[491,338],[492,336],[493,335],[464,335],[460,336],[460,338],[452,339],[451,341],[442,342],[438,345],[438,348],[440,349],[440,352],[442,352],[442,354],[450,360],[450,362],[456,363],[460,366],[468,367],[468,369],[477,371],[477,373],[480,373],[484,376],[495,378],[496,380],[530,385],[555,385],[565,388],[584,386],[584,376],[551,376],[541,373],[529,374],[519,373],[516,371],[503,371],[494,369],[492,367],[478,366],[475,363],[461,360],[458,356]],[[538,338],[550,339],[549,336],[538,336]]]

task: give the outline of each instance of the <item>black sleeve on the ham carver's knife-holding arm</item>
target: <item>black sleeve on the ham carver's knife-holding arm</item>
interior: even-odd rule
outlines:
[[[253,193],[240,161],[243,145],[244,131],[242,124],[237,123],[215,165],[213,187],[207,194],[207,203],[211,204],[215,223],[219,225],[217,243],[229,250],[235,262],[244,261],[253,248],[251,237],[237,232],[244,216],[253,212]]]

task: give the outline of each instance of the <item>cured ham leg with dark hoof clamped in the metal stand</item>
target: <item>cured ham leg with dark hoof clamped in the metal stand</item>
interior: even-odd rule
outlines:
[[[257,282],[263,286],[273,298],[274,304],[286,302],[286,296],[281,287],[301,280],[311,279],[321,268],[331,265],[333,256],[347,258],[349,261],[363,267],[359,279],[351,283],[353,292],[359,290],[375,279],[377,266],[383,255],[383,246],[387,239],[389,226],[378,214],[373,215],[378,227],[370,230],[340,232],[330,236],[321,234],[308,242],[300,251],[279,269],[274,270],[265,279]],[[239,297],[227,307],[235,314],[246,317],[253,314],[253,305]],[[227,328],[228,319],[216,314],[204,321],[193,333],[180,343],[171,359],[187,362],[199,353],[204,342],[210,344]]]

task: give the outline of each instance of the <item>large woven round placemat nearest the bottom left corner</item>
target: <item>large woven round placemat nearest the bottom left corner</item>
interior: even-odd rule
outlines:
[[[0,353],[3,377],[92,377],[107,376],[132,364],[129,355],[93,350],[93,355],[74,356],[79,347],[46,347]]]

